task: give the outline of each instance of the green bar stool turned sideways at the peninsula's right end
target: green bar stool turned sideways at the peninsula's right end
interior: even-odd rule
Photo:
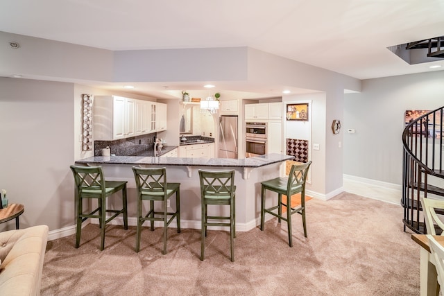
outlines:
[[[288,179],[284,177],[277,177],[272,180],[261,182],[262,184],[262,203],[261,203],[261,230],[264,230],[265,213],[278,217],[280,220],[287,221],[289,232],[289,245],[293,247],[291,239],[291,215],[298,213],[302,215],[302,225],[304,227],[304,236],[307,237],[307,227],[305,225],[305,182],[307,181],[307,173],[311,161],[305,164],[293,164],[291,166]],[[278,205],[265,208],[265,191],[270,190],[278,193]],[[300,205],[296,208],[291,207],[291,195],[300,193]],[[287,204],[282,202],[282,194],[287,195]],[[282,206],[287,207],[287,214],[282,215]],[[278,209],[278,213],[275,213]]]

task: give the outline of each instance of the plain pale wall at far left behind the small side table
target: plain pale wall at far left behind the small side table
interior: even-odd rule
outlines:
[[[24,204],[21,228],[74,224],[73,98],[71,83],[0,78],[0,189]]]

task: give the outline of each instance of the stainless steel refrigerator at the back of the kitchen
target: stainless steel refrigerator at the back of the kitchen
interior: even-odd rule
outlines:
[[[219,128],[219,158],[237,159],[237,116],[222,115]]]

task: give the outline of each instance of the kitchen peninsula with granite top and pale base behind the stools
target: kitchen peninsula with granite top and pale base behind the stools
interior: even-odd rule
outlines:
[[[136,216],[135,180],[132,166],[167,168],[168,182],[180,183],[181,225],[200,229],[200,181],[198,170],[234,170],[236,189],[236,227],[248,231],[259,224],[260,195],[263,180],[280,175],[282,163],[293,159],[289,155],[268,154],[246,159],[189,158],[189,157],[144,157],[144,156],[95,156],[79,159],[76,164],[102,166],[107,180],[128,181],[128,215]],[[271,199],[268,200],[271,202]],[[176,208],[174,200],[171,207]],[[228,209],[209,209],[214,216],[225,215]],[[131,223],[133,221],[133,223]],[[135,218],[130,219],[135,225]]]

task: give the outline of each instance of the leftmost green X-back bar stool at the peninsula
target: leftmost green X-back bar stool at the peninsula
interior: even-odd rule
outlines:
[[[101,166],[70,166],[76,183],[76,247],[80,245],[82,222],[87,218],[98,218],[101,228],[101,247],[105,248],[105,226],[120,214],[123,214],[123,227],[128,229],[128,211],[126,202],[126,181],[105,181]],[[106,209],[106,198],[122,191],[122,209]],[[83,199],[96,198],[98,207],[89,213],[83,213]],[[96,214],[97,213],[97,214]],[[112,213],[106,218],[106,213]]]

